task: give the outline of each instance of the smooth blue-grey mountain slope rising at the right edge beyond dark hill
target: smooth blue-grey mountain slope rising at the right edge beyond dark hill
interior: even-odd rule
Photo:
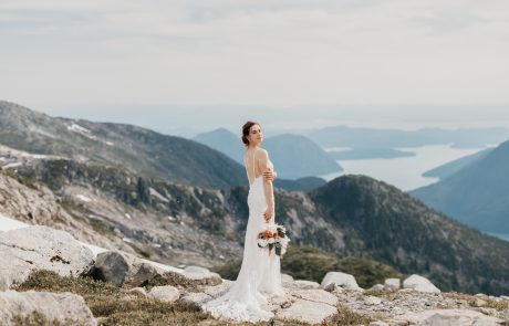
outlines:
[[[509,141],[411,194],[465,224],[509,233]]]

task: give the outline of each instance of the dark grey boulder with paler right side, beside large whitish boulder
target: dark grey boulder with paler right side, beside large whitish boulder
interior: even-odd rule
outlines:
[[[163,274],[163,271],[158,271],[155,266],[134,255],[107,251],[97,255],[94,273],[97,278],[115,286],[124,284],[139,286],[156,275]]]

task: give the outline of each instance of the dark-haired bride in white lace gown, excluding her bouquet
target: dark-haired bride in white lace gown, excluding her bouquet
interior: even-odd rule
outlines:
[[[269,308],[272,296],[284,296],[281,285],[280,257],[274,251],[258,248],[257,235],[266,223],[274,223],[276,178],[267,150],[260,148],[263,134],[260,125],[247,122],[242,126],[246,146],[243,164],[249,179],[249,220],[246,231],[242,266],[237,281],[222,296],[202,307],[216,318],[236,322],[262,322],[273,317]]]

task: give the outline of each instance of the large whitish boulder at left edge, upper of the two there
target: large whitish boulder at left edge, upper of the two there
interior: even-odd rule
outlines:
[[[0,233],[0,291],[22,283],[33,270],[81,276],[93,264],[92,251],[67,232],[33,225]]]

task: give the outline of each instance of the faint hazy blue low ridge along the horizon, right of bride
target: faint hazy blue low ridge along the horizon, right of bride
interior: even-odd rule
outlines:
[[[418,130],[351,128],[345,126],[328,127],[308,135],[324,148],[397,148],[419,147],[424,145],[446,145],[454,147],[478,148],[489,144],[500,144],[509,139],[507,128],[461,128],[446,130],[424,128]]]

